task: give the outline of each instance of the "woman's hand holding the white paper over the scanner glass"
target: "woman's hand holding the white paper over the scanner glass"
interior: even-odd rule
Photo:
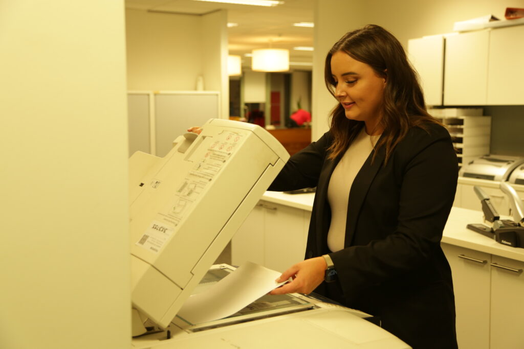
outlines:
[[[310,258],[293,265],[287,271],[283,272],[278,283],[281,283],[290,277],[293,281],[275,288],[271,295],[282,295],[286,293],[299,292],[309,295],[317,286],[324,281],[324,272],[327,265],[323,257]]]

